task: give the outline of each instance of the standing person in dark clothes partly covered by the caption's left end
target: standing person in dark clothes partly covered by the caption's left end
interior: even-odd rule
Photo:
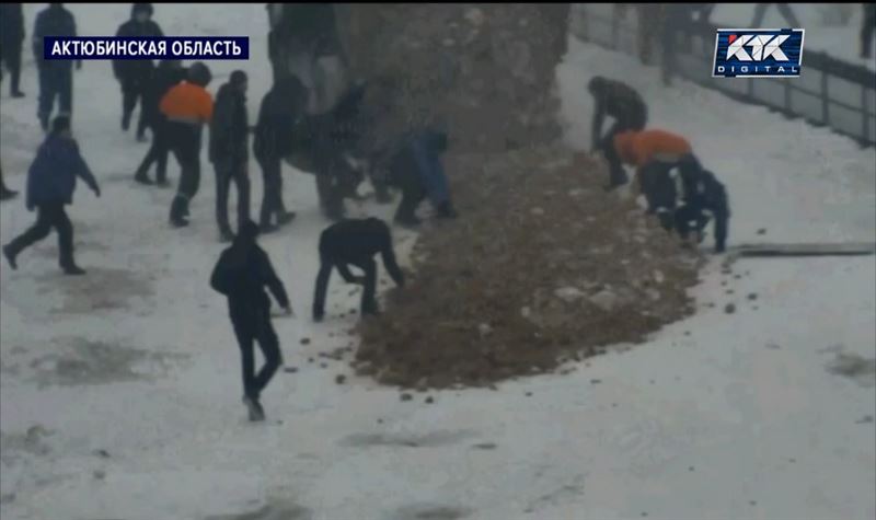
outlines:
[[[43,58],[44,36],[77,36],[76,20],[62,3],[50,3],[36,15],[33,33],[34,61],[39,70],[39,104],[37,117],[43,130],[48,130],[48,122],[58,97],[58,115],[72,115],[73,105],[73,63],[69,60]],[[77,60],[77,69],[82,60]]]

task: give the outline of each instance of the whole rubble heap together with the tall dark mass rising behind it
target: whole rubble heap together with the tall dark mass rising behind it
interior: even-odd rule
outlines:
[[[413,276],[359,326],[354,367],[408,388],[488,385],[638,342],[693,312],[701,259],[607,195],[601,162],[560,143],[555,67],[568,4],[350,8],[372,146],[450,134],[458,221],[425,229]]]

